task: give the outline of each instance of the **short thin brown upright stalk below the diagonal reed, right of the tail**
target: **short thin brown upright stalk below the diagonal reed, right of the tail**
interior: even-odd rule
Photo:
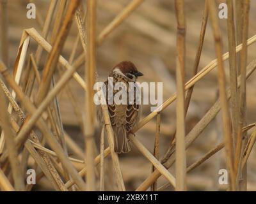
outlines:
[[[161,126],[161,115],[160,113],[156,117],[156,135],[155,135],[155,142],[154,142],[154,157],[159,160],[159,137],[160,137],[160,126]],[[152,165],[152,172],[156,170],[155,166]],[[157,181],[154,182],[151,186],[151,191],[157,190]]]

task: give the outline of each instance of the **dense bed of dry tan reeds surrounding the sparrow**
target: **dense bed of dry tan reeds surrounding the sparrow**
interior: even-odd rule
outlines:
[[[184,0],[22,3],[42,8],[36,8],[33,26],[24,25],[14,37],[19,47],[13,54],[8,5],[14,4],[0,1],[1,191],[195,190],[202,181],[191,178],[204,180],[204,166],[216,165],[212,158],[217,156],[227,169],[228,184],[220,186],[216,179],[217,189],[212,184],[200,190],[256,189],[256,163],[250,160],[256,141],[256,112],[251,110],[256,103],[254,3],[227,0],[228,18],[221,19],[219,1],[196,1],[203,11],[192,26],[200,29],[191,29],[190,4]],[[111,20],[103,25],[104,18]],[[170,48],[172,54],[166,51]],[[152,57],[152,50],[159,56]],[[211,60],[205,57],[209,53]],[[99,128],[93,86],[107,77],[111,63],[126,58],[138,62],[143,80],[164,82],[164,101],[154,112],[142,105],[143,117],[128,135],[132,151],[124,155],[114,150],[104,104]],[[198,96],[197,88],[205,92]],[[218,93],[211,103],[208,92]],[[205,103],[207,108],[200,108]],[[191,116],[193,108],[200,113]],[[221,123],[212,122],[219,112]],[[189,119],[196,122],[191,125]],[[220,141],[207,137],[210,128]],[[36,172],[35,185],[26,180],[29,169]]]

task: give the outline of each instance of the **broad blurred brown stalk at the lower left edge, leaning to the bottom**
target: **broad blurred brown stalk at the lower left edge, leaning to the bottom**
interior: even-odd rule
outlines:
[[[21,166],[18,158],[18,150],[15,146],[15,136],[13,134],[10,119],[8,116],[7,111],[7,105],[3,93],[3,89],[0,89],[0,120],[1,120],[1,128],[4,131],[5,134],[5,140],[6,140],[6,149],[8,152],[8,159],[12,168],[12,177],[14,180],[14,187],[16,191],[24,191],[25,185],[24,185],[24,176],[22,173],[20,173]]]

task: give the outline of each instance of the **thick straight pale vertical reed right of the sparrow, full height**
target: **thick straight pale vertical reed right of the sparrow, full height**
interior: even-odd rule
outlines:
[[[184,1],[175,0],[177,17],[177,59],[176,59],[176,191],[186,191],[186,150],[185,150],[185,98],[184,98],[184,71],[186,55],[186,23],[184,14]]]

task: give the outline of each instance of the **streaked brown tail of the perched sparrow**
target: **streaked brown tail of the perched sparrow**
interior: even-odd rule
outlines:
[[[125,126],[115,127],[115,152],[120,154],[130,152],[130,150]]]

